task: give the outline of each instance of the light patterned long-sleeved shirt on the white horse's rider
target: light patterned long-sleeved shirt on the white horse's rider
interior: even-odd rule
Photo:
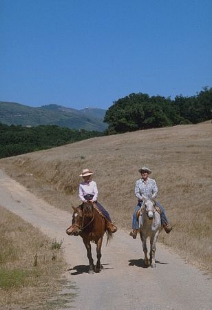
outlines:
[[[156,198],[158,194],[156,181],[153,178],[147,178],[147,180],[140,178],[136,181],[135,194],[138,200],[142,200],[142,195],[147,198]]]

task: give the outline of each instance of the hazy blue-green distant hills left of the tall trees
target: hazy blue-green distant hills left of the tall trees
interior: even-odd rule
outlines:
[[[29,107],[20,103],[0,101],[0,123],[7,125],[58,125],[73,129],[96,130],[103,132],[106,110],[87,107],[75,110],[62,105],[50,104]]]

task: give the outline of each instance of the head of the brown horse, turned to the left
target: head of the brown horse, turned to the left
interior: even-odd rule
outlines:
[[[92,203],[83,203],[78,207],[72,208],[74,209],[72,225],[66,229],[66,234],[78,236],[88,226],[88,223],[91,222],[89,218],[92,216]]]

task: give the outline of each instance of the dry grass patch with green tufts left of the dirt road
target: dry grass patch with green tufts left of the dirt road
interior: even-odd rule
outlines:
[[[0,309],[65,307],[72,296],[60,294],[67,286],[62,242],[1,206],[0,214]]]

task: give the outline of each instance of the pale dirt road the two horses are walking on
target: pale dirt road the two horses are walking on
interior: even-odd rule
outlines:
[[[69,270],[68,280],[76,285],[72,302],[78,310],[211,310],[212,280],[187,265],[176,254],[158,245],[156,269],[145,268],[142,245],[127,231],[117,231],[102,249],[100,273],[87,273],[87,256],[81,237],[67,236],[70,213],[36,198],[25,187],[0,170],[0,205],[21,216],[43,233],[63,240]],[[164,232],[162,233],[164,234]],[[106,238],[105,238],[106,239]],[[96,262],[95,245],[93,257]],[[71,308],[70,308],[71,309]]]

